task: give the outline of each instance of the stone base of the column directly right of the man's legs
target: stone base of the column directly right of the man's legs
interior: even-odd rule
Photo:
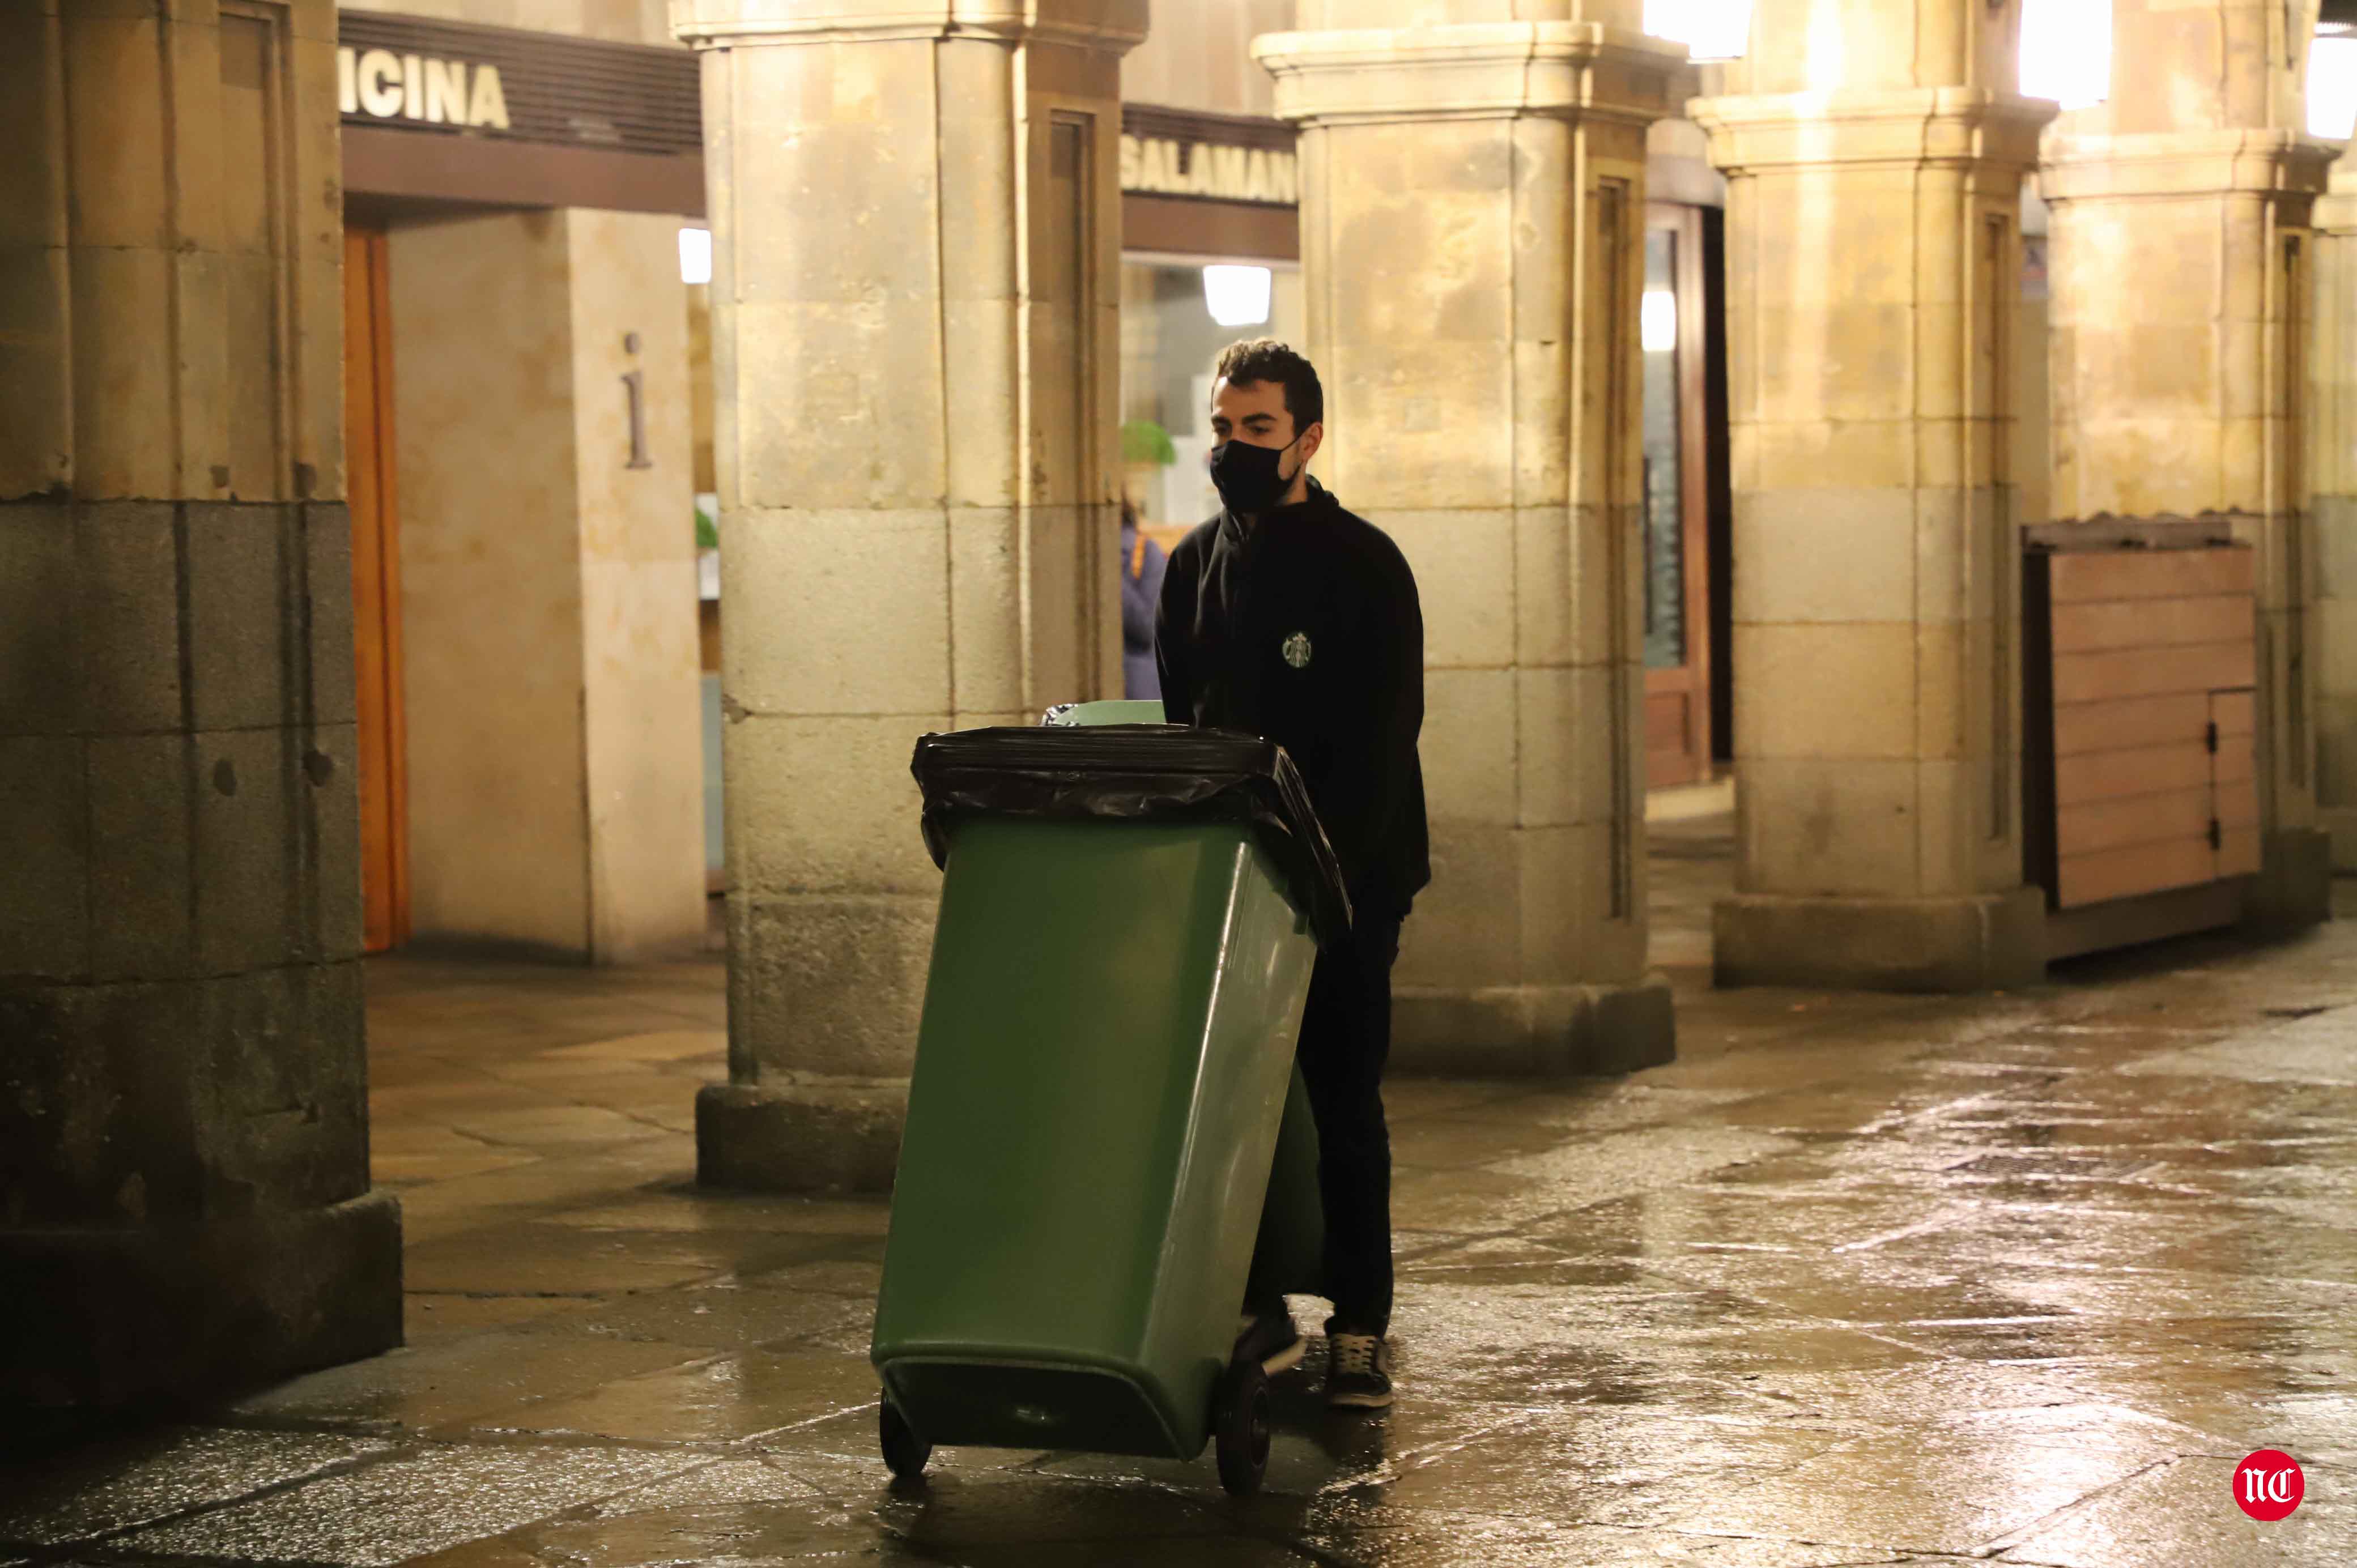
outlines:
[[[1393,990],[1391,1068],[1435,1078],[1605,1078],[1678,1059],[1669,981]]]

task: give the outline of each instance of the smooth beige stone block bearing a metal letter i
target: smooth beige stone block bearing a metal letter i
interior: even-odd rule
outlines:
[[[495,212],[394,229],[387,250],[417,941],[695,953],[679,219]]]

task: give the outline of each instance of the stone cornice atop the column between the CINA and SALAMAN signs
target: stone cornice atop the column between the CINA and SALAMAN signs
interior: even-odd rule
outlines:
[[[672,38],[693,50],[978,38],[1127,52],[1146,42],[1148,0],[672,0]]]

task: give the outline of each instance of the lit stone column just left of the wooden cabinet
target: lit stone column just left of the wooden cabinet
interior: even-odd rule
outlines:
[[[1761,0],[1728,174],[1737,894],[1718,983],[2044,969],[2022,884],[2011,307],[2053,104],[2011,0]]]

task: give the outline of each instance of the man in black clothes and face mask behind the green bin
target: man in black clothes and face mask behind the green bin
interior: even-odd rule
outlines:
[[[1211,384],[1223,509],[1171,549],[1155,660],[1171,724],[1275,740],[1301,769],[1353,922],[1310,976],[1299,1066],[1325,1203],[1327,1403],[1391,1403],[1391,964],[1431,882],[1424,823],[1424,615],[1400,549],[1308,476],[1318,370],[1273,340],[1230,344]],[[1254,1294],[1270,1294],[1256,1290]],[[1282,1297],[1244,1302],[1242,1353],[1301,1361]]]

